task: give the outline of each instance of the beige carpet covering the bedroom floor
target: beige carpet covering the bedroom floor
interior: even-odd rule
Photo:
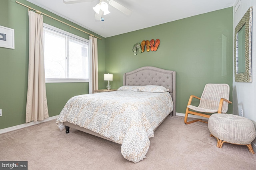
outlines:
[[[224,143],[220,149],[206,123],[185,125],[183,120],[167,117],[137,164],[122,156],[121,145],[72,128],[66,134],[55,120],[1,134],[0,160],[28,161],[29,170],[256,169],[256,154],[246,146]]]

